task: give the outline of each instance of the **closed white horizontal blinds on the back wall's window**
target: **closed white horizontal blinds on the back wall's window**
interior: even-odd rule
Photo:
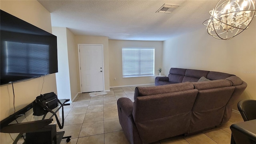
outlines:
[[[123,78],[154,76],[155,48],[122,48]]]

